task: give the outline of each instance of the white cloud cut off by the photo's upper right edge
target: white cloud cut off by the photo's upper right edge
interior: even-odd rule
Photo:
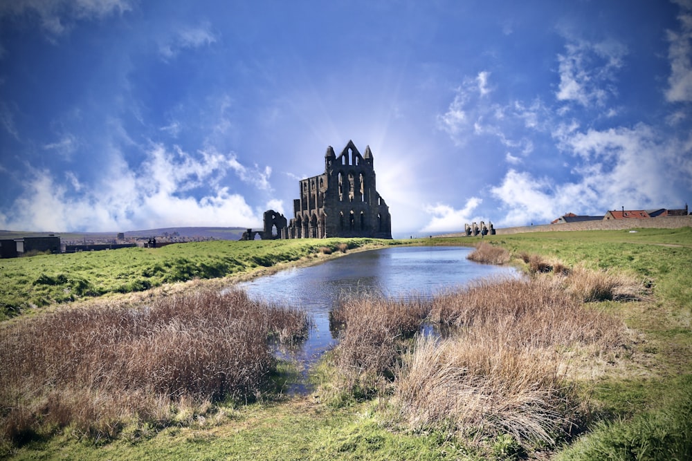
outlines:
[[[668,30],[668,41],[671,43],[668,48],[671,75],[668,77],[666,100],[692,102],[692,7],[682,2],[677,3],[684,11],[677,17],[680,21],[680,31]]]

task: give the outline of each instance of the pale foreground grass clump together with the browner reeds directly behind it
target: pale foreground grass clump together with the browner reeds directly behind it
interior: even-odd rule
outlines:
[[[521,444],[554,444],[578,402],[562,351],[603,352],[626,341],[621,321],[590,310],[543,277],[481,281],[432,301],[430,318],[457,334],[421,338],[396,379],[401,417]]]

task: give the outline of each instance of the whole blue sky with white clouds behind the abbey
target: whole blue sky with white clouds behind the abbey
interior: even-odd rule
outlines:
[[[349,140],[394,236],[684,207],[691,109],[692,0],[1,1],[0,229],[260,227]]]

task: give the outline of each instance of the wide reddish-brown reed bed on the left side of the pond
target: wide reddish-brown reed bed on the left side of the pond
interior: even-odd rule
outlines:
[[[1,435],[21,443],[71,425],[109,437],[128,419],[161,426],[185,405],[252,399],[275,368],[268,339],[307,327],[304,312],[237,290],[19,321],[0,330]]]

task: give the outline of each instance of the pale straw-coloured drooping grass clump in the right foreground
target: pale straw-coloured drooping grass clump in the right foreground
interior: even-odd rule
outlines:
[[[553,354],[485,332],[420,337],[397,377],[396,401],[415,429],[442,426],[475,441],[509,433],[522,444],[553,444],[572,412]]]

